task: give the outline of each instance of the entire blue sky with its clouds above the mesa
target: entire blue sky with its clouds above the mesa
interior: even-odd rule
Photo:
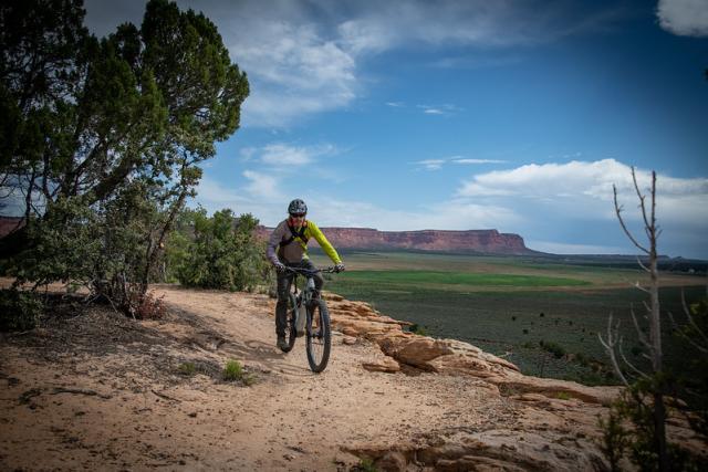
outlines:
[[[658,174],[659,251],[708,259],[708,0],[178,1],[249,75],[196,202],[274,225],[489,229],[634,253],[629,166]],[[144,2],[86,1],[106,34]],[[639,233],[642,235],[642,233]]]

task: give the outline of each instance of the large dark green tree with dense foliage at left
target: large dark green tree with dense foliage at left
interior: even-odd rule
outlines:
[[[101,40],[83,18],[80,0],[0,6],[0,202],[27,223],[0,255],[19,282],[80,280],[133,313],[248,80],[167,0]]]

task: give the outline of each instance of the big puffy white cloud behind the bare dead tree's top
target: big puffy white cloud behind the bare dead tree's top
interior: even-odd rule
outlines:
[[[636,176],[641,191],[648,195],[650,171],[637,169]],[[631,168],[614,159],[531,164],[478,174],[464,181],[456,195],[523,214],[527,224],[514,230],[538,241],[550,241],[548,228],[558,228],[565,231],[559,238],[561,241],[570,239],[585,245],[620,247],[627,241],[618,231],[613,185],[617,188],[623,218],[631,230],[642,237],[642,216]],[[646,203],[649,204],[648,200]],[[697,243],[696,237],[705,238],[708,233],[708,179],[658,174],[656,214],[665,230],[659,245],[663,252],[705,253],[704,244]]]

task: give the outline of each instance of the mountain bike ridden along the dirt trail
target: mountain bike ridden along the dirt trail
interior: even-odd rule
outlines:
[[[326,269],[299,269],[285,266],[293,273],[292,286],[288,296],[288,325],[285,326],[285,342],[288,346],[282,349],[289,353],[295,345],[295,338],[305,336],[308,364],[313,373],[321,373],[330,360],[332,348],[332,329],[330,327],[330,312],[327,304],[321,297],[314,297],[314,279],[317,272],[337,272],[334,268]],[[304,287],[298,292],[298,276],[305,277]]]

